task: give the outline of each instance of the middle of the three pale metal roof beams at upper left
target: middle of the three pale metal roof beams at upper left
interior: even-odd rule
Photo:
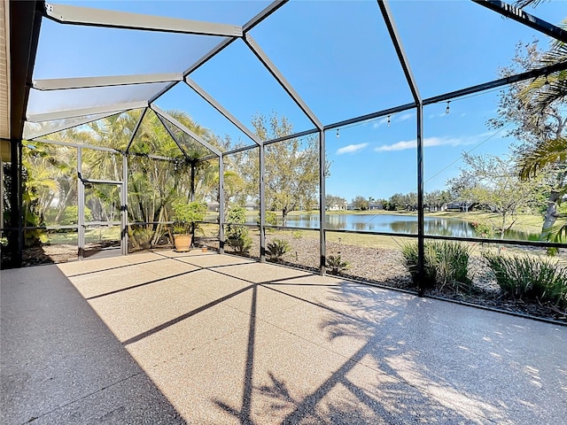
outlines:
[[[182,73],[152,73],[145,75],[115,75],[106,77],[53,78],[35,80],[33,88],[38,90],[89,89],[132,84],[154,84],[159,82],[183,81]]]

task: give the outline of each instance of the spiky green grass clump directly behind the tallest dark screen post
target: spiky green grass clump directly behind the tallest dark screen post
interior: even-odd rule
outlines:
[[[468,292],[472,289],[472,282],[467,277],[470,258],[468,245],[453,241],[432,241],[423,243],[423,249],[424,287],[448,286],[453,290]],[[418,284],[417,243],[404,244],[401,253],[414,283]]]

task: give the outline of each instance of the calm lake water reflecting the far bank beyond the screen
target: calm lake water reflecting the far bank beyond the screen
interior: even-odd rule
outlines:
[[[327,228],[357,230],[366,232],[391,232],[417,234],[417,216],[400,214],[327,214]],[[255,222],[255,220],[254,220]],[[281,226],[281,218],[278,217]],[[319,214],[288,216],[287,226],[298,228],[319,228]],[[465,220],[425,217],[423,227],[426,235],[476,237],[475,229]],[[539,235],[517,230],[506,233],[506,239],[538,240]]]

